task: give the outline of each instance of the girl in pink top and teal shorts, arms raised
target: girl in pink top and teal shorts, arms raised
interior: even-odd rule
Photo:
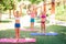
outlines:
[[[31,8],[29,9],[28,13],[31,15],[31,29],[34,29],[34,18],[36,15],[36,9],[35,6],[31,6]]]

